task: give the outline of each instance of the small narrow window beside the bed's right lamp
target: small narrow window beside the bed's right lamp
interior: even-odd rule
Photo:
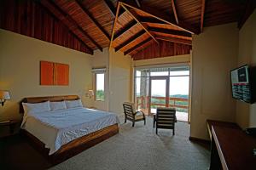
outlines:
[[[96,73],[96,100],[104,101],[105,73]]]

